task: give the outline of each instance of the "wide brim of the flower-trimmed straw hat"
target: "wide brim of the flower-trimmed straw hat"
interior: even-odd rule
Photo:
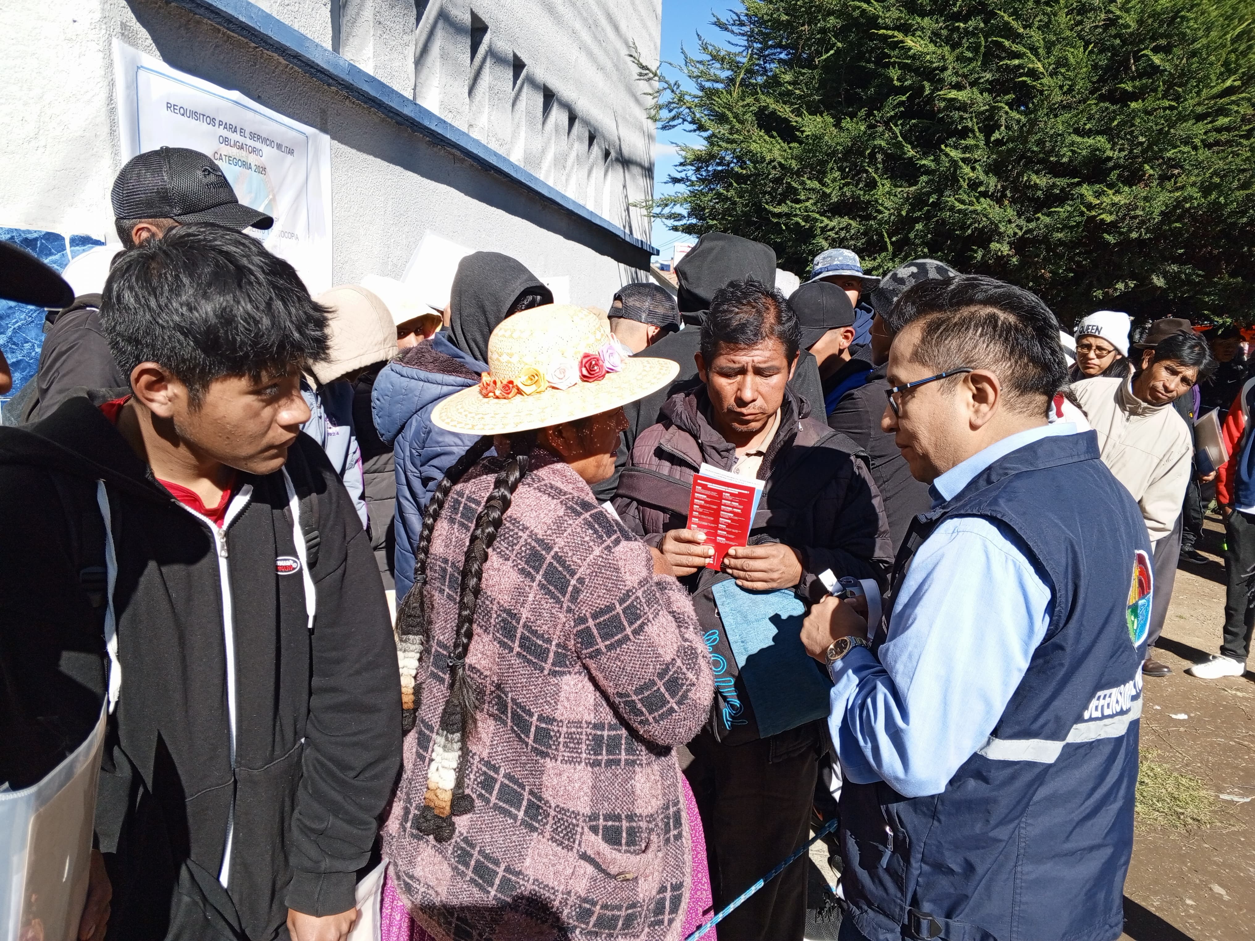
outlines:
[[[680,373],[669,359],[629,356],[622,369],[597,383],[577,383],[570,389],[546,389],[536,395],[487,399],[472,385],[441,401],[432,424],[462,434],[513,434],[575,422],[643,399],[671,383]]]

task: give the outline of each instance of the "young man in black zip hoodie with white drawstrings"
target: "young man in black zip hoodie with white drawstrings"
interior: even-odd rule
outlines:
[[[55,757],[104,699],[110,938],[343,941],[400,690],[366,533],[299,434],[326,312],[193,225],[119,258],[100,321],[131,388],[0,434],[5,725]]]

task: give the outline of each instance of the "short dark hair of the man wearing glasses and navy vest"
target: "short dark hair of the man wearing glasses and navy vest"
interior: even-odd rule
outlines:
[[[984,275],[921,281],[894,305],[904,322],[920,321],[912,359],[944,373],[988,369],[1003,383],[1013,408],[1044,409],[1068,381],[1059,321],[1035,294]]]

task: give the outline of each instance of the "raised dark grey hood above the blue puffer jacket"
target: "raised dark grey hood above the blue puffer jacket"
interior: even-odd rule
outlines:
[[[488,338],[510,316],[522,295],[552,304],[553,294],[508,255],[473,252],[458,262],[449,292],[449,334],[453,345],[481,363],[488,361]]]

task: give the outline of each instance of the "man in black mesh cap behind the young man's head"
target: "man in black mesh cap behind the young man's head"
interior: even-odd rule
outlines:
[[[162,147],[129,159],[113,181],[110,201],[123,250],[161,238],[184,222],[212,222],[237,231],[275,225],[270,216],[236,198],[217,163],[186,147]],[[48,316],[30,398],[15,400],[23,423],[51,414],[70,389],[127,384],[100,332],[99,307],[100,295],[87,294]]]

